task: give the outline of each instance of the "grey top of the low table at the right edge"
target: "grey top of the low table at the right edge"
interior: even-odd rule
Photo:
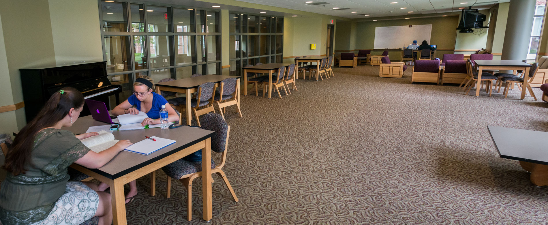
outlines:
[[[548,132],[487,126],[501,158],[548,165]]]

